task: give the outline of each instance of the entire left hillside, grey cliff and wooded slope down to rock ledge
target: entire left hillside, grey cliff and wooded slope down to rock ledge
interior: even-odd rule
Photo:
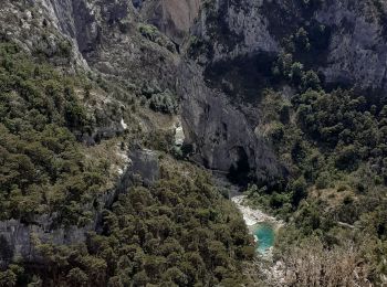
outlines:
[[[174,70],[177,55],[170,40],[142,24],[127,2],[6,1],[0,21],[1,158],[8,162],[0,230],[14,256],[34,261],[32,234],[55,244],[82,243],[134,173],[158,177],[143,170],[156,155],[138,149],[155,126],[160,134],[172,129],[175,118],[143,107],[137,97],[154,109],[176,108],[174,95],[158,85],[167,73],[149,65],[161,66],[165,55],[165,68]]]

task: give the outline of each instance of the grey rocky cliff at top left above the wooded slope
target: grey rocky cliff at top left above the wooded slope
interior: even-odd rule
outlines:
[[[161,32],[146,30],[147,19],[132,0],[4,1],[0,10],[2,39],[43,53],[66,71],[94,70],[125,85],[175,84],[175,44]]]

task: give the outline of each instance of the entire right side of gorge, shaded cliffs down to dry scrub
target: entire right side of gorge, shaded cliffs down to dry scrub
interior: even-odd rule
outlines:
[[[386,233],[379,219],[387,183],[386,8],[384,1],[206,1],[192,28],[187,57],[211,92],[184,98],[182,111],[190,115],[196,99],[228,103],[243,120],[232,136],[249,142],[241,150],[252,147],[251,138],[261,142],[253,150],[264,150],[264,157],[245,166],[275,183],[262,188],[258,181],[248,194],[252,204],[287,222],[276,257],[289,275],[281,283],[286,286],[385,284]],[[217,149],[226,141],[224,128],[218,126],[211,132],[216,139],[207,141],[208,129],[199,128],[222,117],[212,118],[218,110],[212,107],[203,109],[208,121],[188,121],[187,134],[217,155],[224,150]],[[356,246],[351,256],[362,264],[331,265],[334,273],[347,268],[337,272],[342,277],[313,265],[331,276],[311,275],[297,264],[314,262],[311,246],[320,244],[328,246],[322,253]],[[302,258],[293,252],[300,245]],[[380,257],[369,259],[376,254]],[[317,265],[326,259],[317,256]]]

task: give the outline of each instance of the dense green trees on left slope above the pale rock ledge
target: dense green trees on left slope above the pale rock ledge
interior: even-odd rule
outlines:
[[[85,169],[72,132],[92,125],[77,86],[75,77],[34,63],[18,46],[0,45],[1,220],[55,211],[76,223],[87,194],[104,182],[102,172]]]

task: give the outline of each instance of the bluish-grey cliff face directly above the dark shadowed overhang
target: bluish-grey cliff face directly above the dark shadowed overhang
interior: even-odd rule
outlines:
[[[264,7],[264,0],[209,1],[195,32],[212,43],[213,61],[257,51],[279,51]]]

